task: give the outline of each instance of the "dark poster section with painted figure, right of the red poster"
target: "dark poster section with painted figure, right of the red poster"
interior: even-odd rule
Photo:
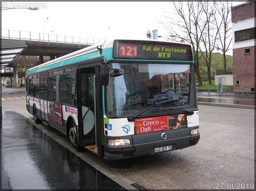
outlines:
[[[187,127],[187,115],[178,114],[169,116],[169,129],[181,129]]]

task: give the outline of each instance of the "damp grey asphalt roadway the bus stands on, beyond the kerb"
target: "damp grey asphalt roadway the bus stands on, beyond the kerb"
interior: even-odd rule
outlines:
[[[3,95],[6,99],[2,101],[3,112],[17,111],[32,121],[32,115],[25,110],[25,100],[16,100],[19,95]],[[14,100],[8,100],[8,97]],[[216,189],[221,186],[224,189],[230,185],[233,188],[244,186],[253,189],[254,110],[207,105],[198,107],[201,138],[196,146],[118,162],[99,160],[89,152],[73,153],[83,160],[91,156],[85,154],[92,154],[93,161],[107,165],[111,172],[117,172],[147,189]],[[42,128],[43,132],[50,130],[44,125],[37,125],[37,128]],[[68,140],[62,139],[63,136],[56,132],[50,131],[48,135],[55,135],[63,141],[63,147],[68,148]],[[36,173],[44,174],[40,169]]]

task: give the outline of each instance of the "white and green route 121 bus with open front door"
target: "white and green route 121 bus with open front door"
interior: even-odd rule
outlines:
[[[191,45],[106,40],[30,68],[26,109],[107,160],[196,145]]]

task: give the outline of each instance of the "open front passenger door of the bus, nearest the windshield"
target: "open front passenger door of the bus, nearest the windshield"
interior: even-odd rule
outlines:
[[[78,132],[80,145],[103,156],[102,91],[99,85],[100,63],[86,63],[77,69]],[[97,65],[97,66],[96,66]]]

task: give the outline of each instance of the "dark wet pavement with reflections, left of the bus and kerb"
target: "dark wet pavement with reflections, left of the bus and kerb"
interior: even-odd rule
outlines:
[[[123,189],[16,112],[2,128],[2,189]]]

